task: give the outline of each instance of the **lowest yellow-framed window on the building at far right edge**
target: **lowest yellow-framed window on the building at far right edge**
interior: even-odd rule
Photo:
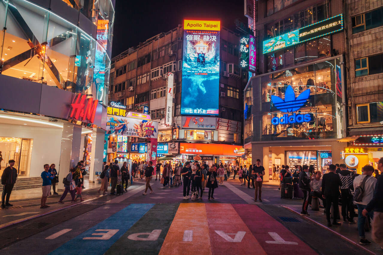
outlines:
[[[357,105],[357,123],[377,123],[383,121],[383,102]]]

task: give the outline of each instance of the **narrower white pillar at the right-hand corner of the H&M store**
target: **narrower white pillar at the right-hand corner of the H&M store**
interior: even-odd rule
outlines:
[[[105,131],[100,128],[93,129],[92,134],[92,154],[90,157],[89,182],[95,182],[97,177],[95,172],[102,171],[104,158]]]

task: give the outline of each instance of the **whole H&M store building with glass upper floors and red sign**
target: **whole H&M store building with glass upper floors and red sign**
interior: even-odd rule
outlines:
[[[19,188],[46,163],[101,171],[115,1],[80,2],[0,3],[0,164],[16,161]]]

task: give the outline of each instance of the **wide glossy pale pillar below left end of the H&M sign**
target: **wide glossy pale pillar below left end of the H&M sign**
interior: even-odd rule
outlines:
[[[77,162],[79,162],[81,149],[81,130],[81,126],[72,123],[64,123],[62,127],[58,183],[59,190],[64,190],[62,178],[66,177],[70,168],[75,167]]]

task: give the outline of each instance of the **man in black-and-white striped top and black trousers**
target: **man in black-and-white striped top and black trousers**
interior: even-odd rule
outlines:
[[[350,223],[355,223],[354,221],[354,205],[352,204],[352,197],[350,191],[350,185],[352,184],[352,172],[347,170],[346,164],[339,165],[339,178],[342,181],[342,186],[340,186],[340,193],[342,194],[342,216],[343,221],[347,220]],[[348,213],[347,213],[348,211]]]

